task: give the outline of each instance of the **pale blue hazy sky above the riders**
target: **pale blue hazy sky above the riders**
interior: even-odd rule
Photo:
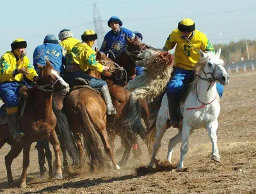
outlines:
[[[205,33],[212,44],[244,38],[256,40],[255,0],[13,0],[1,2],[1,56],[11,50],[13,40],[24,38],[28,43],[28,57],[33,63],[33,52],[45,36],[54,34],[58,38],[58,33],[65,28],[81,40],[84,31],[95,30],[95,6],[101,17],[98,24],[102,24],[104,33],[111,30],[108,19],[116,15],[122,20],[122,27],[139,31],[143,41],[156,48],[163,48],[168,35],[185,18],[193,19],[196,29]]]

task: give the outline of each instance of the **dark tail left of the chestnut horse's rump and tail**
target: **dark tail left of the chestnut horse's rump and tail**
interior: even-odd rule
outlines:
[[[74,165],[79,164],[79,152],[74,140],[74,137],[70,131],[68,119],[63,112],[56,108],[54,102],[52,102],[52,110],[57,118],[56,133],[60,140],[60,146],[67,150],[68,155],[72,158]]]

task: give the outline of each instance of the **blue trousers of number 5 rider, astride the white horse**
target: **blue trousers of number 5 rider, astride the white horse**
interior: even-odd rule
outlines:
[[[191,82],[195,74],[193,70],[184,70],[182,68],[176,68],[174,75],[170,82],[167,84],[166,93],[167,95],[180,96],[181,91],[184,89],[186,82]],[[224,86],[220,83],[216,84],[216,88],[220,97],[223,94]]]

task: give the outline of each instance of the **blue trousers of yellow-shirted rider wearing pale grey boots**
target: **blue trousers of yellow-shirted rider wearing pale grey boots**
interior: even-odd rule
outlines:
[[[65,80],[65,82],[67,82],[68,84],[72,85],[75,78],[77,77],[81,77],[87,80],[90,80],[90,86],[97,88],[97,89],[101,89],[102,86],[107,85],[107,83],[99,78],[95,78],[92,77],[90,75],[86,75],[85,73],[83,73],[83,71],[70,71],[70,72],[65,72],[63,79]]]

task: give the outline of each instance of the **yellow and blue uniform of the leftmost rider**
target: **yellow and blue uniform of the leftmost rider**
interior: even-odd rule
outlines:
[[[0,97],[6,104],[8,114],[18,111],[19,86],[27,85],[26,81],[24,81],[24,75],[17,73],[17,70],[20,68],[26,68],[29,71],[26,77],[31,81],[33,81],[35,76],[38,76],[27,56],[24,56],[23,59],[17,59],[12,51],[8,51],[1,57]]]

